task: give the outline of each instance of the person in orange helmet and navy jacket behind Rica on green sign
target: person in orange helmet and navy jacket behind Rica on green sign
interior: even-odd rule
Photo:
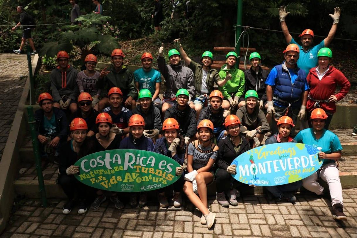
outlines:
[[[130,133],[125,137],[119,146],[119,149],[145,150],[155,152],[154,143],[150,138],[144,136],[145,120],[139,114],[134,114],[129,119]],[[139,207],[144,207],[147,201],[147,193],[140,192]],[[132,208],[137,206],[137,193],[130,193],[129,205]]]

